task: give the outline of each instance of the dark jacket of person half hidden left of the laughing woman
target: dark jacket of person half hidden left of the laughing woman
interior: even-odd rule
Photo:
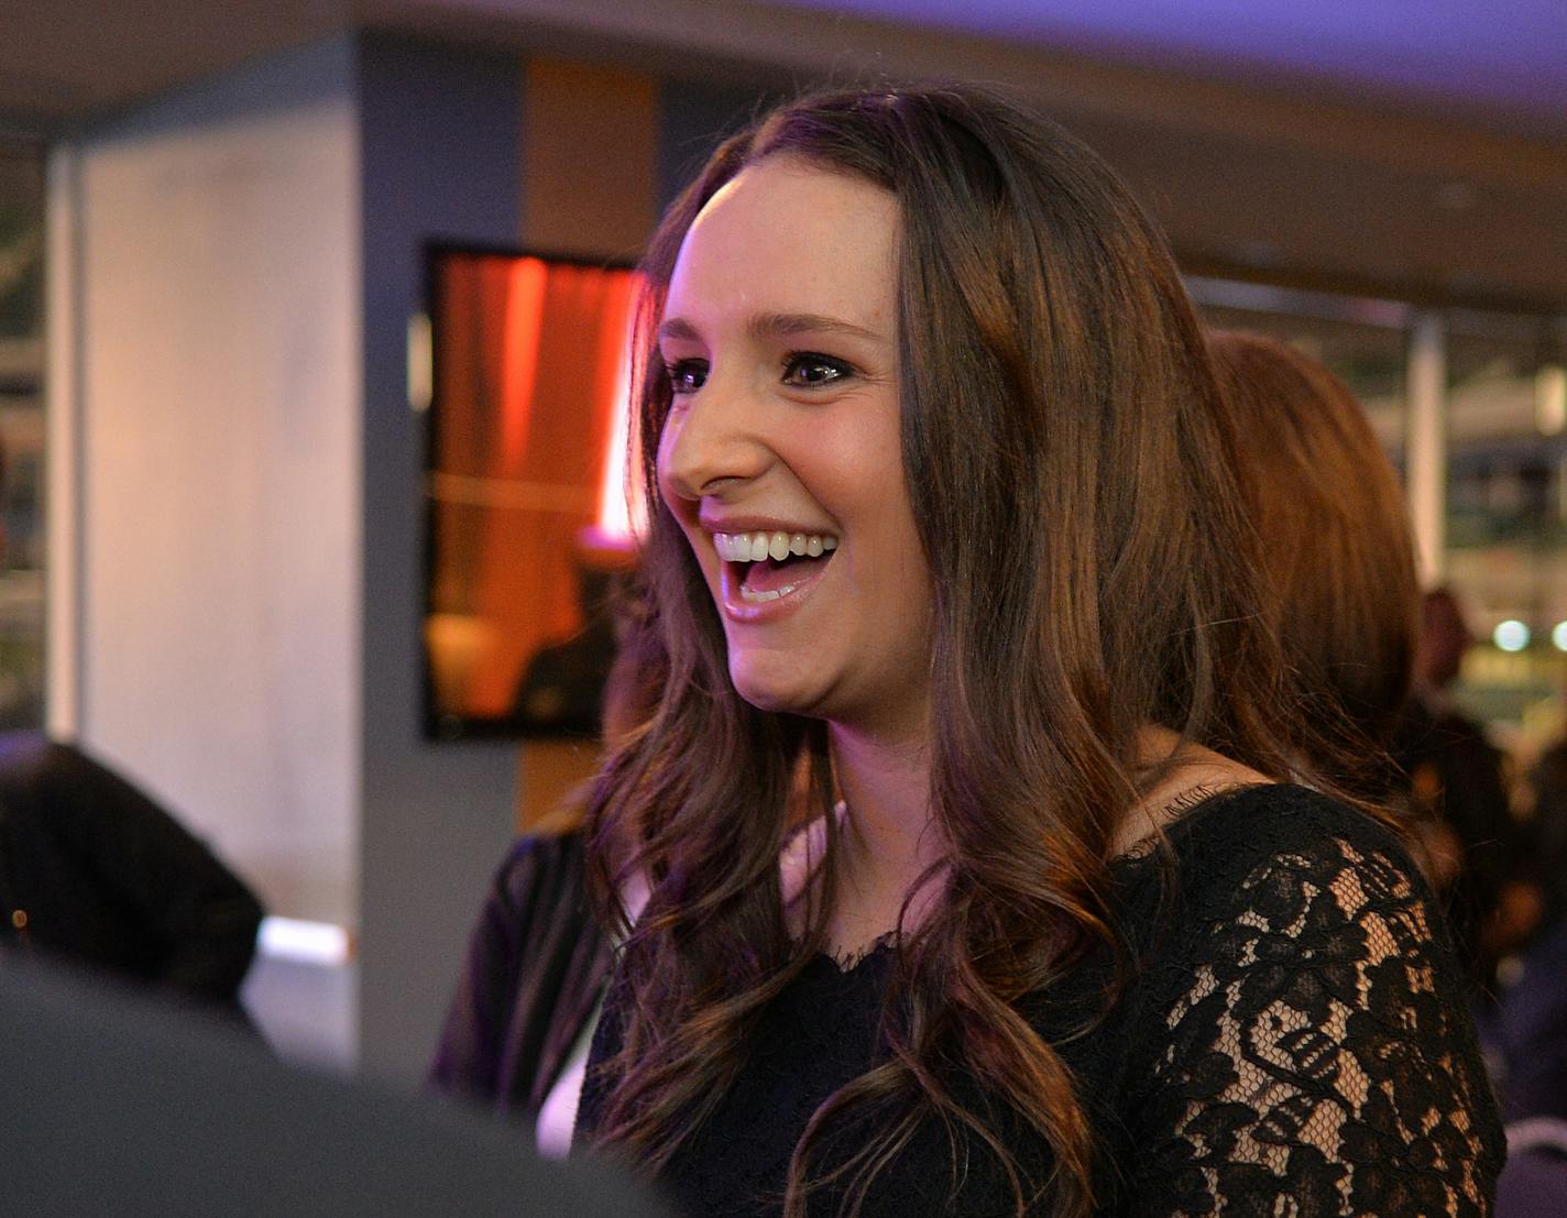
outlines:
[[[536,1116],[610,975],[588,909],[583,837],[523,837],[469,939],[429,1085]]]

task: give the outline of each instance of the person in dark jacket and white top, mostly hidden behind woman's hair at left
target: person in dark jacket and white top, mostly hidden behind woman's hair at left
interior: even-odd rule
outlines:
[[[614,624],[613,663],[602,682],[602,735],[624,737],[658,698],[664,665],[650,635],[619,646],[627,622],[646,611],[621,585],[599,616]],[[619,649],[616,649],[619,647]],[[527,682],[525,682],[527,683]],[[519,699],[520,701],[520,699]],[[599,707],[592,720],[599,721]],[[428,1086],[533,1121],[544,1154],[570,1146],[588,1046],[614,962],[610,939],[588,906],[580,803],[520,837],[490,883],[469,937]],[[628,892],[641,908],[644,892]]]

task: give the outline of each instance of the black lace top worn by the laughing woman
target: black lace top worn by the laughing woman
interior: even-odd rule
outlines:
[[[1211,796],[1169,840],[1174,868],[1158,853],[1114,865],[1141,967],[1109,1019],[1062,1035],[1094,1008],[1103,964],[1028,1011],[1094,1124],[1100,1212],[1490,1213],[1501,1127],[1446,933],[1398,840],[1301,787]],[[661,1176],[685,1212],[779,1212],[810,1113],[878,1057],[890,952],[848,969],[821,956],[773,1003],[730,1094]],[[592,1064],[619,1047],[619,997]],[[611,1085],[589,1068],[578,1144]],[[1044,1147],[998,1108],[995,1127],[1040,1179]],[[845,1143],[829,1144],[829,1166],[834,1144]],[[959,1146],[956,1162],[954,1174],[948,1136],[929,1122],[863,1213],[1012,1213],[983,1146]],[[812,1213],[832,1215],[840,1199],[816,1193]]]

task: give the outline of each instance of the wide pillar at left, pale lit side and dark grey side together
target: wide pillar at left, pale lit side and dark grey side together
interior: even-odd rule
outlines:
[[[309,1031],[403,1082],[517,806],[516,745],[420,735],[404,343],[426,240],[516,240],[520,78],[334,39],[88,132],[50,179],[50,724],[271,912],[357,931]],[[263,989],[263,1019],[299,1000]]]

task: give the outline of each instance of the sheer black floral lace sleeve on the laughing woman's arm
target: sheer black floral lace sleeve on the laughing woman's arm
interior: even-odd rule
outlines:
[[[1407,857],[1371,825],[1244,853],[1152,975],[1135,1212],[1490,1213],[1495,1108]]]

